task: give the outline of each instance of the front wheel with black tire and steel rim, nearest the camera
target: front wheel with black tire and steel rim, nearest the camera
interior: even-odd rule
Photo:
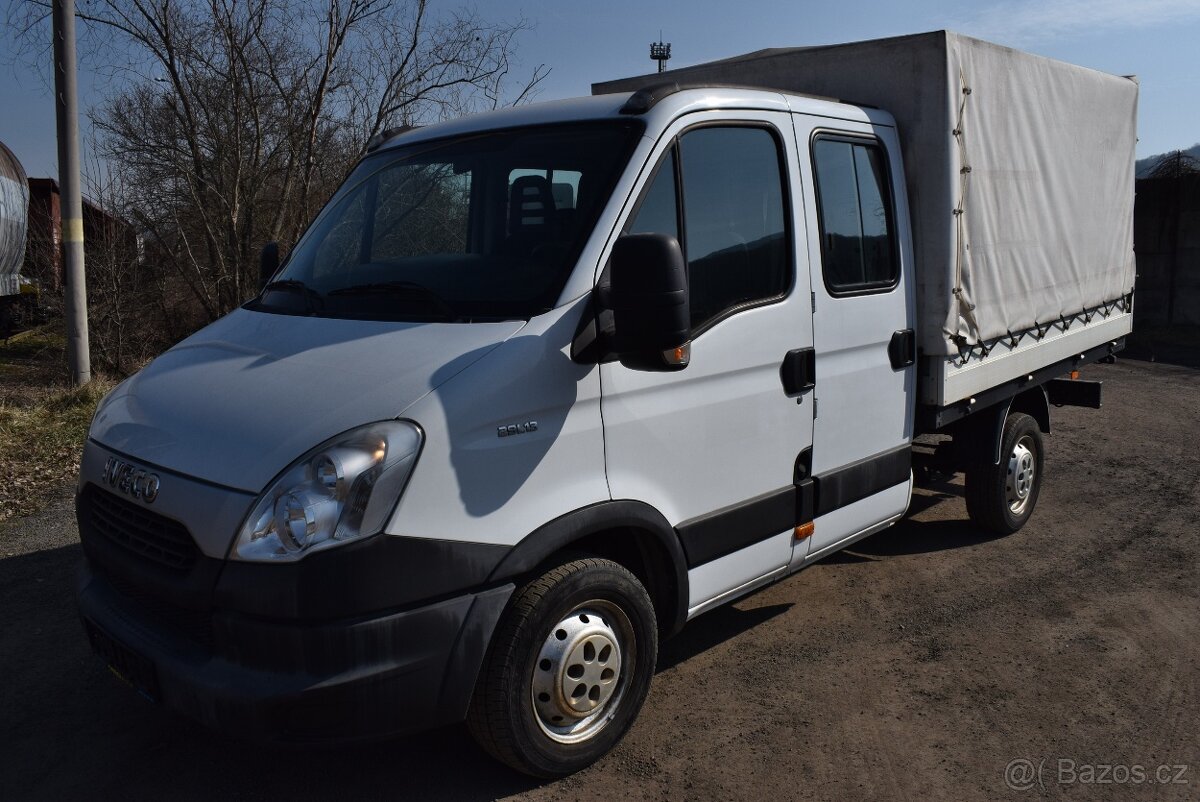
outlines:
[[[656,660],[654,606],[637,577],[608,559],[574,559],[514,594],[484,658],[467,728],[512,768],[565,777],[617,746]]]

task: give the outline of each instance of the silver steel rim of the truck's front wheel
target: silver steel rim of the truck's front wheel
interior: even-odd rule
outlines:
[[[611,602],[593,599],[551,627],[533,666],[529,698],[553,741],[592,738],[616,716],[636,659],[634,628]]]

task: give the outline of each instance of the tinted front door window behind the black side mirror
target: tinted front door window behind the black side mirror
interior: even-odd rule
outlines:
[[[792,265],[775,137],[754,126],[685,132],[664,157],[625,231],[679,239],[694,333],[739,307],[781,298]]]

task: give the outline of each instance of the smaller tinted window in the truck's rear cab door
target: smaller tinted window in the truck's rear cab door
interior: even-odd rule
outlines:
[[[826,287],[834,295],[892,288],[900,265],[883,149],[874,142],[818,138],[812,161]]]

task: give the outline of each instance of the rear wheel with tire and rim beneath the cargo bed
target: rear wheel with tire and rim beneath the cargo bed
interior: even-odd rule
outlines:
[[[1010,413],[1004,420],[1000,465],[989,461],[967,471],[971,520],[997,534],[1025,526],[1042,491],[1044,453],[1037,421],[1022,412]]]

